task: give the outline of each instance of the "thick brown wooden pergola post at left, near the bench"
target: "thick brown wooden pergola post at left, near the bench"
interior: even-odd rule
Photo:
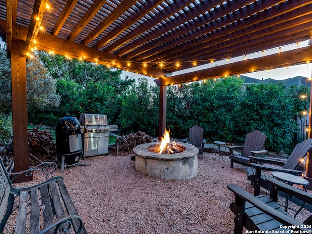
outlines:
[[[14,172],[29,169],[28,160],[28,118],[26,93],[26,57],[25,43],[12,40],[11,47],[11,89]],[[14,182],[30,181],[31,177],[20,176]]]

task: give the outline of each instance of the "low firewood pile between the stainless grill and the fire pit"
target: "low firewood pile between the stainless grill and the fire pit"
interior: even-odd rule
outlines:
[[[131,153],[132,149],[139,144],[145,144],[151,142],[151,137],[145,132],[138,131],[137,133],[130,133],[128,135],[122,135],[122,137],[117,137],[115,145],[112,146],[116,155],[120,151]]]

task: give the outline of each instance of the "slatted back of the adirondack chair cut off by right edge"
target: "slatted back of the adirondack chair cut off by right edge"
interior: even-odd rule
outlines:
[[[311,149],[311,145],[312,145],[312,139],[307,139],[307,140],[302,141],[301,143],[298,143],[292,150],[292,153],[288,157],[283,168],[295,170],[298,167],[300,160]]]

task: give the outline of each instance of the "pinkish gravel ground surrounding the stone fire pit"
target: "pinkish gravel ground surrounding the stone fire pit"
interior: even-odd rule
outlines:
[[[253,193],[243,166],[231,169],[227,156],[218,162],[205,152],[197,176],[167,181],[136,172],[131,156],[87,157],[82,162],[90,166],[55,173],[64,177],[89,234],[233,233],[234,194],[226,185]]]

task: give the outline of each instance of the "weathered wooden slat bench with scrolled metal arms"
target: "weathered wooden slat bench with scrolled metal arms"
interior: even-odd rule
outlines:
[[[9,218],[15,224],[15,234],[87,233],[63,178],[52,176],[56,169],[57,165],[49,162],[21,173],[8,173],[0,160],[0,233]],[[12,186],[18,176],[32,176],[35,171],[44,173],[46,180],[25,188]]]

